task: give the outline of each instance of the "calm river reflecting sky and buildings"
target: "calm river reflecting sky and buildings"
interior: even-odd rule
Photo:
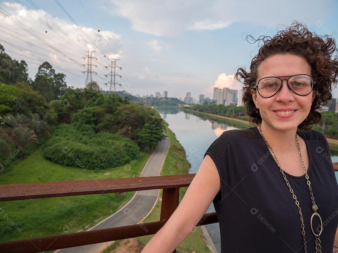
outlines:
[[[157,108],[161,117],[169,124],[169,128],[176,135],[176,139],[186,151],[187,160],[191,163],[189,173],[196,173],[203,160],[204,153],[211,143],[224,131],[239,129],[221,120],[208,120],[200,116],[185,113],[177,108]],[[338,162],[338,154],[331,152],[332,162]],[[338,182],[338,172],[336,179]],[[215,212],[214,205],[211,203],[207,212]],[[205,225],[211,239],[213,240],[217,252],[221,251],[219,224]]]

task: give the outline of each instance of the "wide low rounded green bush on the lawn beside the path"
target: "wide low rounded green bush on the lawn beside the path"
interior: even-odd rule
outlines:
[[[61,124],[49,138],[43,156],[55,163],[83,169],[122,166],[139,153],[140,148],[127,137],[100,132],[90,125]]]

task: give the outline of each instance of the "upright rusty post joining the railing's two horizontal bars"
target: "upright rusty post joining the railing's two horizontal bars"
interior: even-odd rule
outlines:
[[[160,220],[169,220],[170,216],[178,207],[178,200],[179,188],[163,189]],[[176,249],[172,253],[176,253]]]

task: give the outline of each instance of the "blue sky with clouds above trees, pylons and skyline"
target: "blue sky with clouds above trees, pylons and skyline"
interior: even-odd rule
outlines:
[[[27,62],[32,79],[48,61],[66,74],[68,86],[83,88],[86,51],[94,51],[93,81],[108,90],[106,67],[118,59],[116,90],[136,96],[168,91],[168,97],[184,98],[191,92],[198,100],[199,94],[212,98],[214,87],[240,90],[234,73],[249,70],[262,45],[245,37],[273,37],[293,20],[338,43],[334,0],[16,0],[0,7],[0,43]]]

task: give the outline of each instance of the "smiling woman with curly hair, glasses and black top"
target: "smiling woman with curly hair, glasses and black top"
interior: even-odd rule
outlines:
[[[311,129],[338,81],[335,41],[297,22],[269,38],[250,72],[235,74],[256,126],[224,131],[210,145],[178,208],[143,253],[172,252],[211,202],[222,252],[324,253],[338,246],[330,149]]]

